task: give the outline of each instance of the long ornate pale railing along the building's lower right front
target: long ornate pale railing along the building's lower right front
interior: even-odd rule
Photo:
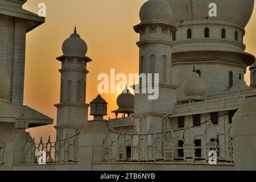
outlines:
[[[197,128],[198,129],[198,128]],[[154,133],[152,127],[147,134],[138,134],[136,127],[133,134],[109,131],[104,140],[105,162],[203,162],[208,163],[209,152],[216,152],[216,160],[234,163],[232,126],[227,133],[218,133],[216,126],[209,123],[199,134],[193,127],[183,131],[171,130],[170,125],[162,134]],[[180,136],[178,136],[180,135]],[[228,138],[219,142],[220,136]],[[200,139],[200,144],[196,140]],[[180,146],[180,140],[183,144]],[[179,141],[179,142],[178,142]]]

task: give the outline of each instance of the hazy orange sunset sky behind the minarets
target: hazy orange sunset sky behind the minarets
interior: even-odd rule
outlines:
[[[61,64],[55,58],[62,55],[61,45],[77,27],[77,33],[88,44],[86,103],[97,96],[97,76],[110,73],[137,73],[139,49],[135,42],[139,36],[133,30],[138,24],[139,9],[146,0],[28,0],[24,9],[38,12],[38,4],[47,7],[46,23],[28,32],[26,42],[26,68],[24,83],[24,105],[30,106],[54,119],[60,97]],[[256,12],[246,27],[246,51],[256,55]],[[246,82],[249,84],[249,72]],[[109,103],[108,113],[117,109],[117,94],[102,94]],[[89,117],[90,118],[90,117]],[[55,129],[51,126],[29,129],[36,140],[43,136],[44,142],[50,134],[55,140]]]

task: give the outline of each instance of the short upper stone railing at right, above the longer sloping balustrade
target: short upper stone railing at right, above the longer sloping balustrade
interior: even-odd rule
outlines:
[[[254,93],[254,89],[246,89],[246,90],[238,90],[233,92],[224,92],[219,94],[212,94],[207,96],[207,100],[213,100],[217,98],[225,98],[225,97],[234,97],[234,96],[241,96],[245,94],[251,94]]]

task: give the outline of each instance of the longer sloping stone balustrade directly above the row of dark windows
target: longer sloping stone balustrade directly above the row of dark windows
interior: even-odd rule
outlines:
[[[244,100],[245,96],[236,96],[229,98],[220,98],[216,100],[206,100],[202,102],[193,102],[189,104],[176,105],[175,111],[176,113],[184,113],[189,111],[216,109],[218,107],[239,106]]]

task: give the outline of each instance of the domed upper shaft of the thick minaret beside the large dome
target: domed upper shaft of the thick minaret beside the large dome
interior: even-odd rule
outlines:
[[[159,82],[171,83],[172,9],[163,0],[149,0],[139,12],[141,23],[134,26],[139,36],[139,73],[159,73]]]

